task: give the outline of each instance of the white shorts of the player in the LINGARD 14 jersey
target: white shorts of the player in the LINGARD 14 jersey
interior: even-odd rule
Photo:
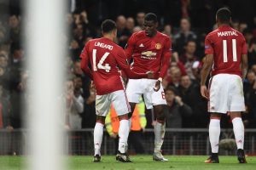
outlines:
[[[110,94],[96,95],[96,115],[107,116],[111,104],[118,116],[131,112],[125,90],[118,90]]]

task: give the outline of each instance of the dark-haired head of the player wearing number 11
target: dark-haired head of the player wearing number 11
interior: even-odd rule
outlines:
[[[231,12],[229,8],[219,8],[216,13],[216,21],[218,24],[230,24]]]

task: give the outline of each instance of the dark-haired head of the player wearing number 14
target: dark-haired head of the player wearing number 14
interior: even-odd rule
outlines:
[[[116,28],[116,24],[113,20],[104,20],[102,22],[102,35],[108,36],[108,37],[113,37],[113,39],[116,37],[117,28]]]

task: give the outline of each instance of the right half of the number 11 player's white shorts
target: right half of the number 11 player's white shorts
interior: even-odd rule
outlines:
[[[229,111],[245,111],[244,94],[241,77],[231,75],[230,79]]]

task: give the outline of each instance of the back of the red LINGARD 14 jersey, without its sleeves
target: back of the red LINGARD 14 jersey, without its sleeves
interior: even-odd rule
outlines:
[[[90,56],[96,94],[109,94],[124,89],[116,61],[119,51],[123,49],[105,37],[93,39],[87,43],[85,50]]]

